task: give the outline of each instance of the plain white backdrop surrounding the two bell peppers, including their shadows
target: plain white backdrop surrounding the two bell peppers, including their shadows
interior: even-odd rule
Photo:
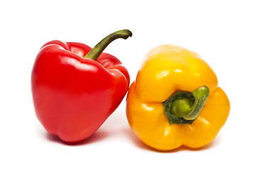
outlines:
[[[0,169],[254,169],[255,1],[1,1]],[[31,69],[50,40],[93,47],[129,29],[105,52],[132,81],[152,47],[171,43],[200,54],[230,99],[228,121],[201,149],[158,152],[129,129],[125,100],[95,135],[67,145],[49,135],[33,110]]]

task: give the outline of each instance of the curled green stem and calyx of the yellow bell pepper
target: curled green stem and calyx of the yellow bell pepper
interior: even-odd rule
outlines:
[[[193,93],[178,91],[164,101],[164,113],[170,124],[191,124],[200,114],[210,90],[201,86]]]

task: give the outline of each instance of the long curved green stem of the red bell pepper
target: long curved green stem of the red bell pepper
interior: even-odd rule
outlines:
[[[90,52],[88,52],[84,58],[90,58],[96,61],[103,50],[105,50],[107,45],[110,44],[110,42],[116,40],[117,38],[127,39],[129,37],[132,37],[132,32],[129,30],[118,30],[110,35],[107,35],[107,37],[97,43],[97,45],[95,45],[95,47],[93,47],[92,50],[90,50]]]

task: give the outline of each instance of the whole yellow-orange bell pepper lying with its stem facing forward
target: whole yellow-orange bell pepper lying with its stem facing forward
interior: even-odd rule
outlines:
[[[149,51],[127,95],[127,120],[146,145],[198,148],[218,135],[230,102],[213,69],[176,45]]]

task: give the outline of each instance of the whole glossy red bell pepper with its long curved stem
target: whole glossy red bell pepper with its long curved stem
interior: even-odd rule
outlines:
[[[43,127],[65,142],[90,137],[114,112],[129,88],[129,74],[114,56],[102,51],[129,30],[108,35],[93,49],[78,42],[53,40],[33,64],[31,91]]]

